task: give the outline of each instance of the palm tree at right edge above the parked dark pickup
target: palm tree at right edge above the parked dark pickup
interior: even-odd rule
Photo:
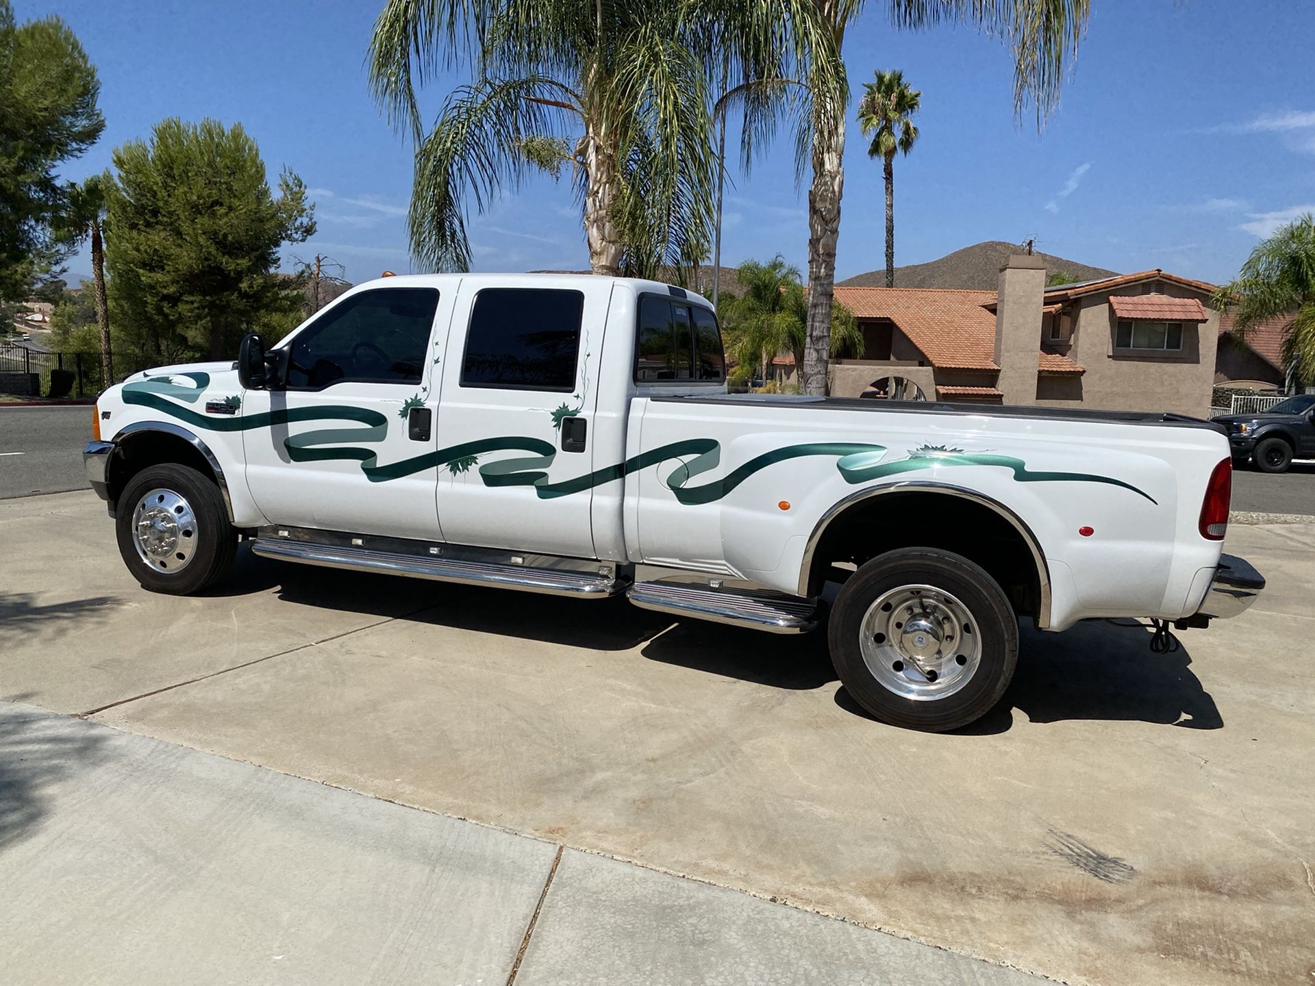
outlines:
[[[1265,319],[1291,314],[1283,362],[1301,380],[1315,381],[1315,218],[1306,213],[1276,230],[1212,304],[1236,312],[1233,329],[1243,339]]]

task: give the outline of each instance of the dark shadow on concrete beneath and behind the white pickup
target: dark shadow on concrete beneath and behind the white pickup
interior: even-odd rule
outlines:
[[[826,631],[776,635],[677,619],[640,610],[625,598],[564,599],[417,578],[360,575],[252,557],[243,547],[233,572],[208,596],[277,589],[279,598],[325,609],[469,630],[594,651],[642,648],[647,660],[768,688],[813,690],[838,682]],[[1185,635],[1190,639],[1190,634]],[[1018,670],[999,705],[961,735],[1007,731],[1014,710],[1034,723],[1069,719],[1148,722],[1218,730],[1223,718],[1191,672],[1186,646],[1152,653],[1151,632],[1105,621],[1063,634],[1020,626]],[[836,705],[867,713],[839,688]]]

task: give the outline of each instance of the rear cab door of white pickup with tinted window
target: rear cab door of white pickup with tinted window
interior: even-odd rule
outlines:
[[[438,411],[448,542],[596,557],[590,425],[610,294],[604,277],[462,280]]]

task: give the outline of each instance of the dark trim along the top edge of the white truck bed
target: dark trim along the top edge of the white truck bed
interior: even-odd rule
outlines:
[[[1193,418],[1186,414],[1173,414],[1169,411],[1114,411],[1074,409],[1064,410],[1057,408],[1020,408],[1013,404],[1002,405],[970,405],[947,404],[944,401],[873,401],[861,397],[781,397],[780,394],[718,394],[717,397],[704,397],[700,394],[669,394],[650,397],[655,402],[689,401],[697,404],[721,404],[734,408],[746,405],[768,405],[772,408],[798,408],[809,410],[864,410],[889,411],[901,414],[957,414],[957,415],[985,415],[989,418],[1036,418],[1041,421],[1080,421],[1105,425],[1162,425],[1168,427],[1208,429],[1219,434],[1227,434],[1223,425],[1216,425],[1205,418]]]

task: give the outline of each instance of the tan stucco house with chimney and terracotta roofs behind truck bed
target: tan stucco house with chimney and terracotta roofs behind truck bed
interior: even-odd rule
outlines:
[[[1205,417],[1214,289],[1160,270],[1047,288],[1036,256],[1011,256],[997,291],[836,287],[864,359],[834,360],[830,392],[903,377],[927,400]]]

